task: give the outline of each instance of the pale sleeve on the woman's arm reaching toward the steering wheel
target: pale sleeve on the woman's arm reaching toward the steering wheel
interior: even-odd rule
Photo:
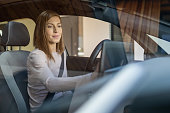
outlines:
[[[41,81],[50,92],[71,90],[78,82],[82,80],[91,80],[91,74],[75,77],[54,77],[53,73],[48,67],[46,56],[44,54],[31,53],[29,55],[29,60],[32,64],[32,75],[34,75],[36,80]]]

